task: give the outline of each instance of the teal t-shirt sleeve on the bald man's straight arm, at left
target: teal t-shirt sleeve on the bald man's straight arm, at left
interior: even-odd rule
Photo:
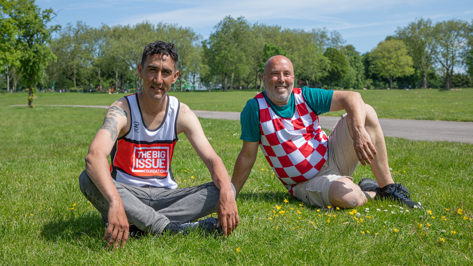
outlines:
[[[240,124],[240,140],[247,142],[260,141],[260,108],[256,99],[249,99],[246,102],[243,111],[240,113]]]

